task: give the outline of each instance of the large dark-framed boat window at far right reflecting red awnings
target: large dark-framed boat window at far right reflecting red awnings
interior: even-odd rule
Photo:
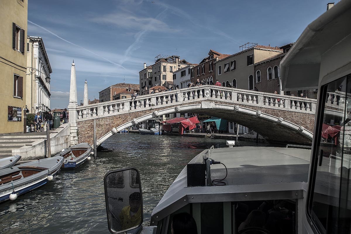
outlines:
[[[320,90],[307,215],[318,233],[350,233],[351,75]]]

